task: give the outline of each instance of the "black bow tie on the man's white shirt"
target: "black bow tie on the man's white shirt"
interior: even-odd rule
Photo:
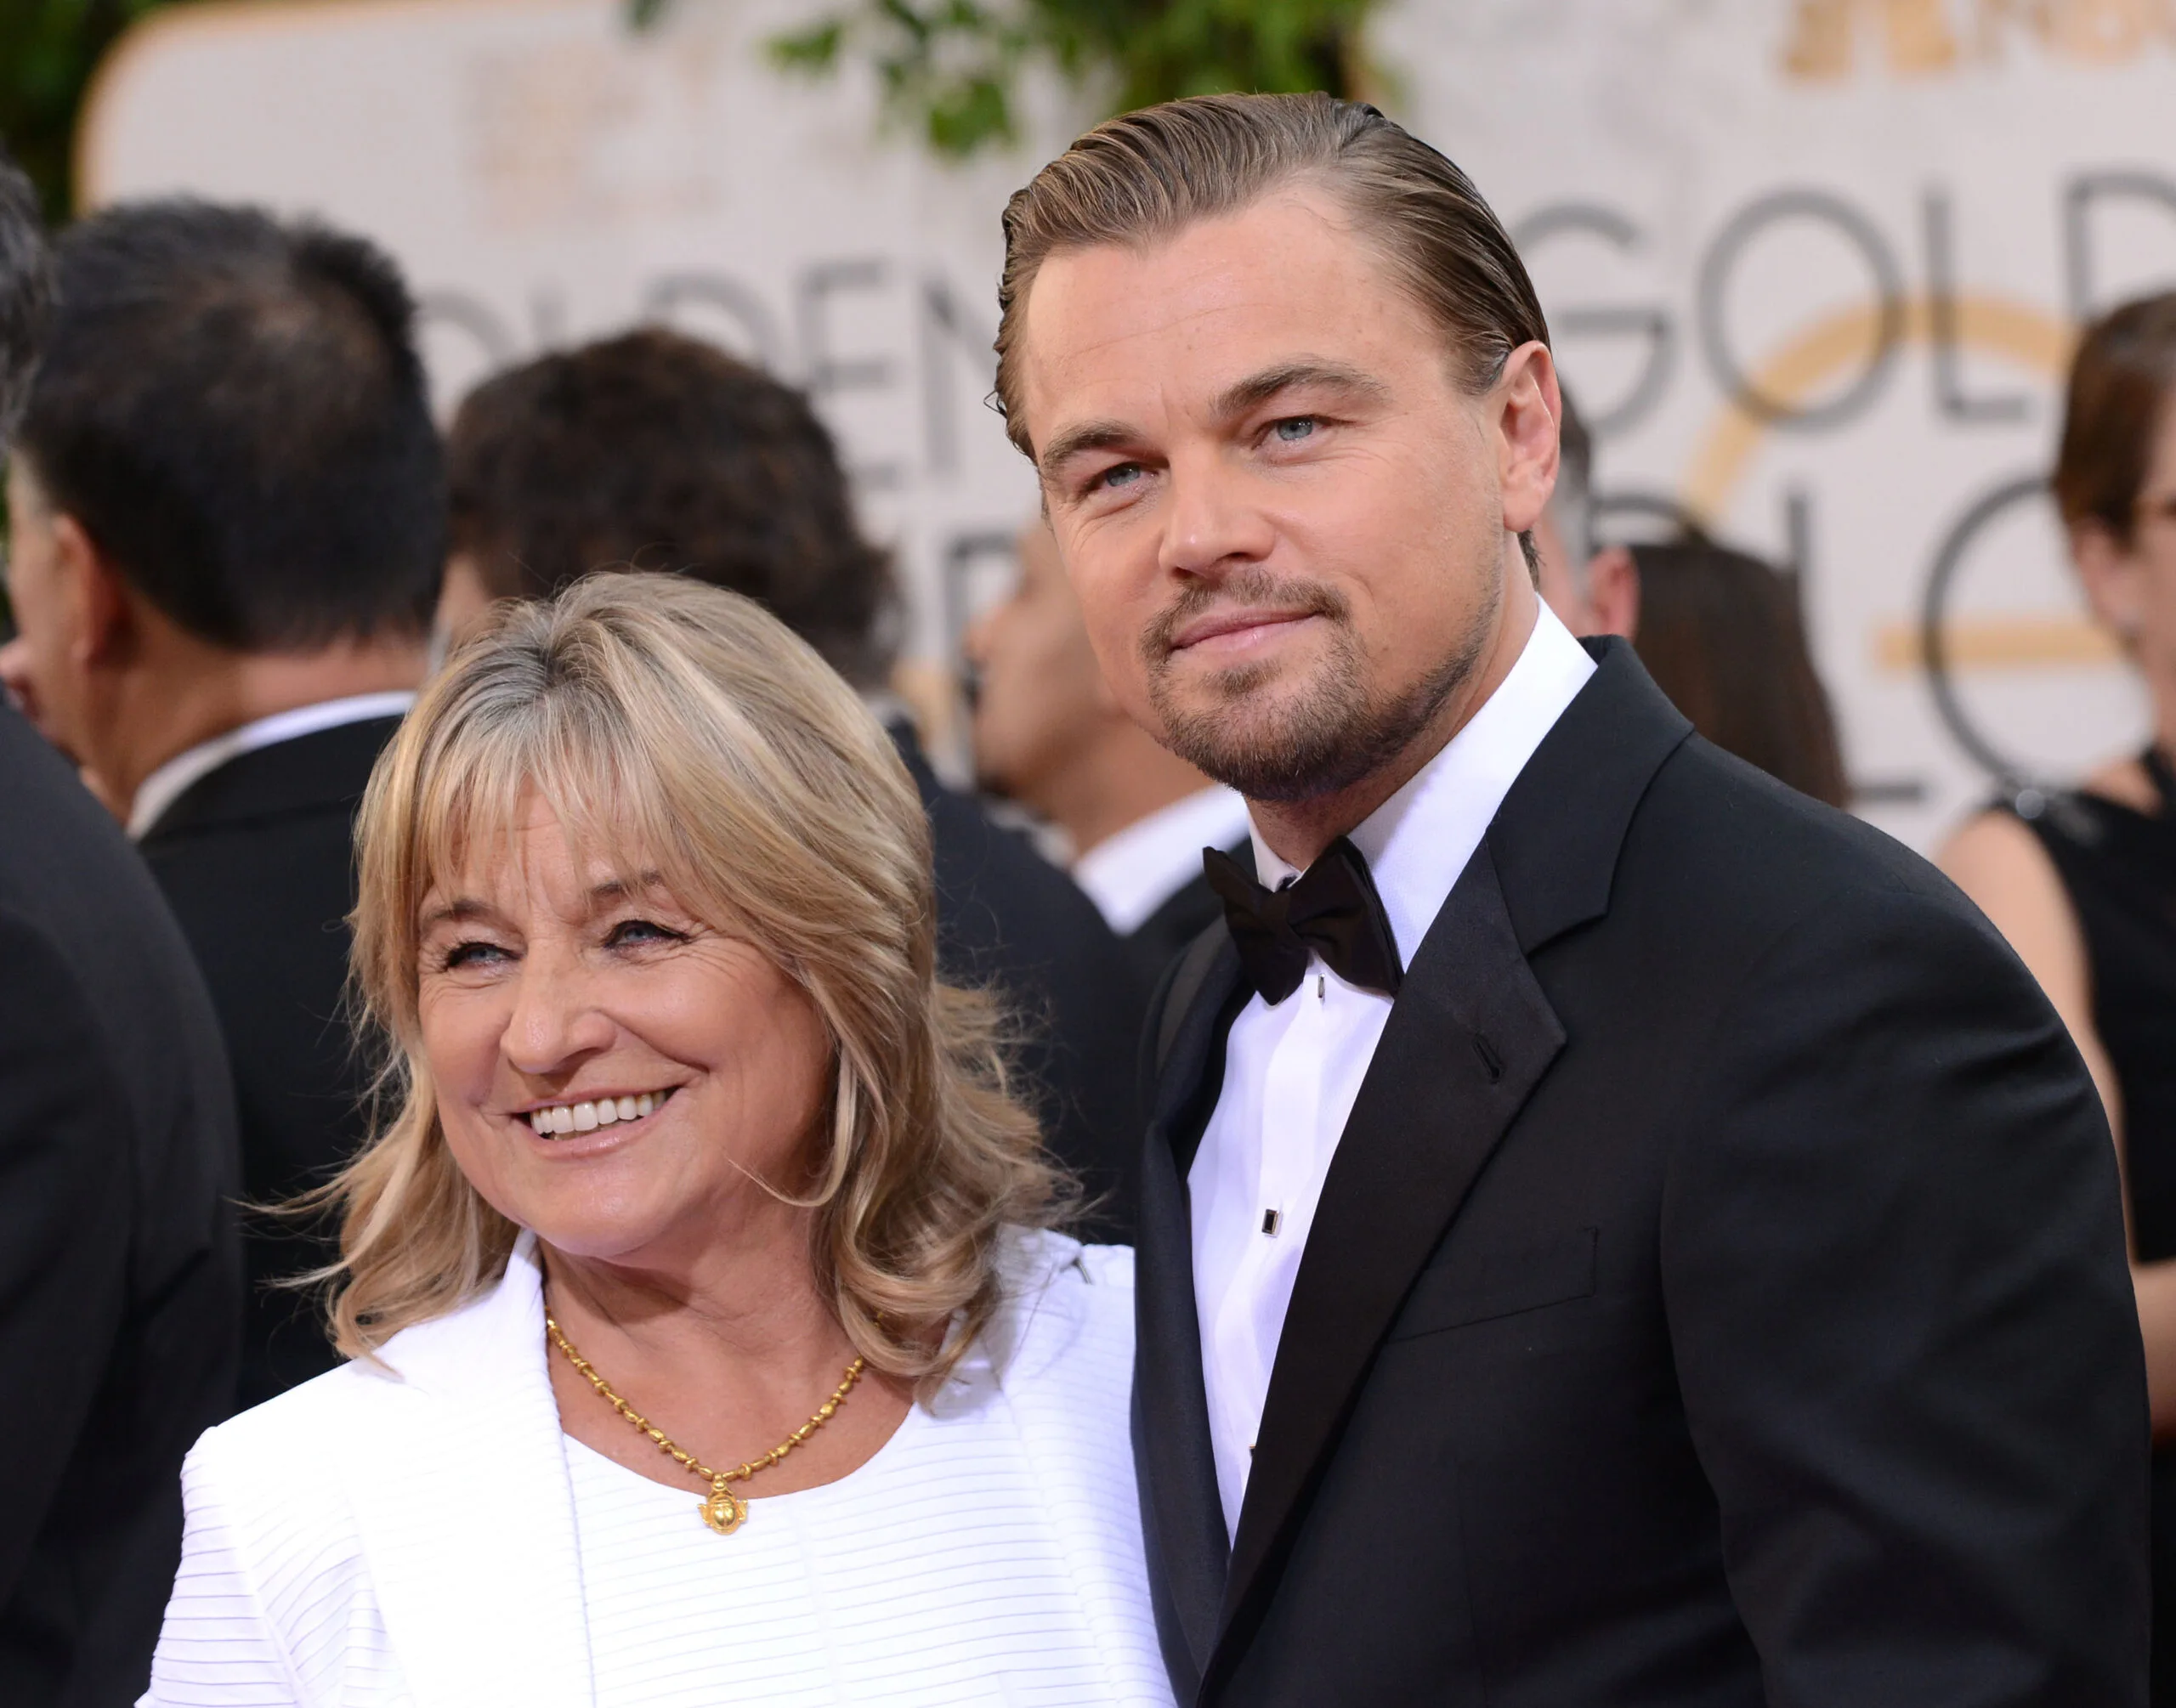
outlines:
[[[1308,955],[1345,983],[1397,994],[1404,966],[1367,859],[1343,836],[1282,890],[1264,890],[1221,849],[1201,851],[1201,870],[1223,899],[1247,977],[1273,1007],[1308,977]]]

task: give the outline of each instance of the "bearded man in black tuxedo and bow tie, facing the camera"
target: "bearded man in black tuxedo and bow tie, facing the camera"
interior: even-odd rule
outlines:
[[[1534,594],[1560,394],[1369,107],[1132,113],[999,396],[1112,685],[1249,799],[1151,1010],[1136,1453],[1197,1704],[2141,1704],[2115,1155],[1989,925]]]

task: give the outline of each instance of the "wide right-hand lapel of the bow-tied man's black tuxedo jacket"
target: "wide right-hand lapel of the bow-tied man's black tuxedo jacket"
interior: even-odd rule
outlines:
[[[1630,646],[1588,651],[1595,674],[1421,942],[1323,1179],[1232,1545],[1219,1660],[1266,1604],[1390,1319],[1565,1047],[1528,955],[1608,909],[1632,812],[1691,733]]]

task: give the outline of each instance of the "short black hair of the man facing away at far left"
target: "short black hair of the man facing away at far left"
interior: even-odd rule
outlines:
[[[122,579],[244,653],[422,635],[446,481],[394,261],[191,198],[98,213],[54,257],[22,450]]]

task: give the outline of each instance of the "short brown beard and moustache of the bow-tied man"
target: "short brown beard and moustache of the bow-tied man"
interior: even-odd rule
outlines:
[[[1188,587],[1140,640],[1149,670],[1149,705],[1164,727],[1164,746],[1249,801],[1319,801],[1375,775],[1436,720],[1445,701],[1473,674],[1495,629],[1501,590],[1491,581],[1456,651],[1406,690],[1377,690],[1351,629],[1345,596],[1319,581],[1277,581],[1242,572],[1216,587]],[[1199,711],[1177,703],[1171,683],[1171,635],[1212,605],[1271,605],[1323,618],[1330,653],[1312,679],[1279,705],[1253,705],[1275,690],[1277,666],[1234,664],[1203,688],[1219,705]]]

